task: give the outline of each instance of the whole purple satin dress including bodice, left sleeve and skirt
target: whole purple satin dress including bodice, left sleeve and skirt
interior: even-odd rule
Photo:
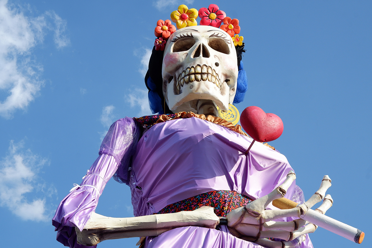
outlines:
[[[84,247],[76,243],[72,227],[83,229],[111,176],[129,185],[134,215],[141,216],[213,190],[235,191],[257,199],[283,183],[292,170],[284,155],[259,142],[245,155],[251,138],[196,117],[158,123],[144,133],[140,130],[131,118],[120,119],[110,127],[100,157],[81,186],[62,200],[53,218],[57,240],[62,244]],[[292,199],[295,187],[294,182],[287,198]],[[296,197],[299,194],[302,192]],[[148,237],[145,247],[261,246],[232,236],[225,226],[220,230],[190,226]],[[307,237],[300,247],[312,248],[310,239]]]

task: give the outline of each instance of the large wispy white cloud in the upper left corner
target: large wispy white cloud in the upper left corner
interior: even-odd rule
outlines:
[[[15,110],[25,109],[38,96],[44,85],[43,67],[33,58],[32,49],[51,30],[57,48],[68,45],[65,29],[66,22],[53,11],[27,16],[19,7],[0,0],[0,90],[7,94],[0,99],[0,116],[12,118]]]

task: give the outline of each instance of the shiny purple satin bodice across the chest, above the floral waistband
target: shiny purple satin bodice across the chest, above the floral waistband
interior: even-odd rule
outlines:
[[[195,117],[158,123],[145,132],[133,155],[134,215],[213,190],[265,196],[292,170],[283,154],[223,126]],[[295,183],[286,195],[291,199]]]

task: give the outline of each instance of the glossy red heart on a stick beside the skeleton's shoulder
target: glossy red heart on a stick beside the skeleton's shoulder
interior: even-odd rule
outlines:
[[[278,139],[283,133],[283,122],[279,116],[265,113],[256,106],[250,106],[240,115],[240,124],[254,140],[269,142]]]

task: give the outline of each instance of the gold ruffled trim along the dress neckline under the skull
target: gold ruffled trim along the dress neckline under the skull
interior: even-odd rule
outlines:
[[[169,117],[167,115],[161,115],[159,117],[159,119],[154,123],[154,125],[157,124],[157,123],[166,122],[167,120],[176,120],[176,119],[196,117],[196,118],[199,118],[199,119],[202,119],[202,120],[208,120],[209,122],[215,123],[215,124],[220,125],[220,126],[224,126],[225,128],[228,128],[231,131],[234,131],[234,132],[237,132],[241,135],[245,135],[245,136],[250,137],[249,135],[247,135],[247,133],[245,133],[241,130],[240,125],[238,125],[238,124],[234,125],[231,122],[228,122],[227,120],[222,119],[220,117],[216,117],[216,116],[212,116],[212,115],[205,116],[203,114],[198,115],[198,114],[195,114],[193,112],[187,112],[187,113],[186,112],[179,112],[179,113],[175,113],[175,115],[176,116],[174,116],[174,117]],[[275,150],[275,148],[273,146],[271,146],[267,143],[265,143],[264,145],[266,145],[267,147]]]

